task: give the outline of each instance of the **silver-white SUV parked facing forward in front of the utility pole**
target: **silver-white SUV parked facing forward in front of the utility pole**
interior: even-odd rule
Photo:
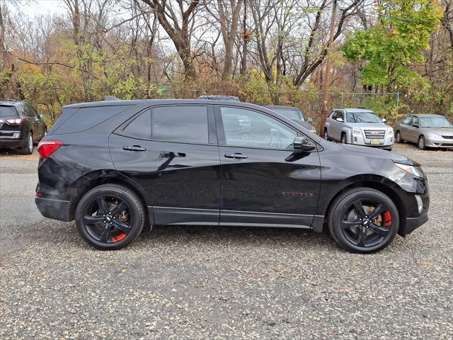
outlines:
[[[391,151],[394,130],[365,108],[334,108],[326,120],[324,139]]]

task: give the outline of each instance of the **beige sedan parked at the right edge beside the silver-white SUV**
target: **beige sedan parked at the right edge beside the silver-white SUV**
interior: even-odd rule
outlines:
[[[453,125],[443,115],[408,115],[396,123],[397,143],[415,142],[419,149],[453,149]]]

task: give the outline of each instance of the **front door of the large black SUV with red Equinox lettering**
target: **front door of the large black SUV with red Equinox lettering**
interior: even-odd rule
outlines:
[[[241,116],[250,122],[245,137],[231,133],[229,126]],[[294,137],[302,133],[266,113],[235,106],[216,106],[216,123],[220,225],[310,226],[321,168],[316,149],[294,150]]]

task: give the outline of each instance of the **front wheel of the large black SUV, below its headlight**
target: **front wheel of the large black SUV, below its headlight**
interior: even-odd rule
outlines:
[[[362,206],[361,213],[357,212],[356,205]],[[375,218],[370,209],[372,205],[376,205],[376,209],[381,207]],[[365,217],[359,220],[361,215]],[[328,212],[328,229],[333,239],[354,253],[369,254],[384,249],[395,238],[398,227],[399,214],[395,204],[384,193],[372,188],[346,191],[333,201]]]

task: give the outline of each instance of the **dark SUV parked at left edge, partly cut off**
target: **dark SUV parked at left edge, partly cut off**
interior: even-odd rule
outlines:
[[[0,149],[18,148],[22,154],[33,153],[33,143],[47,133],[44,118],[25,101],[0,99]]]

